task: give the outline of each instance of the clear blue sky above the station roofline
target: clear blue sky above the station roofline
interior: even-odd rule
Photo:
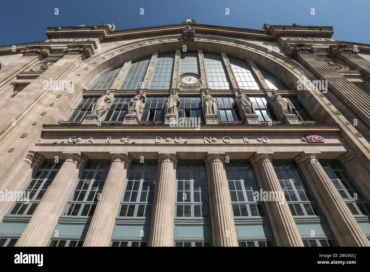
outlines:
[[[54,15],[55,8],[59,15]],[[230,15],[225,15],[226,8]],[[186,18],[253,29],[262,29],[263,23],[334,26],[334,39],[370,44],[369,12],[370,0],[2,0],[0,46],[46,40],[50,26],[94,26],[104,21],[119,30],[178,24]]]

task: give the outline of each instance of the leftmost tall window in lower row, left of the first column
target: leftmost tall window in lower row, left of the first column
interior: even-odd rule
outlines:
[[[63,161],[55,163],[54,161],[45,160],[37,169],[24,190],[26,192],[24,197],[29,194],[29,203],[22,201],[15,202],[8,215],[33,215],[62,164]]]

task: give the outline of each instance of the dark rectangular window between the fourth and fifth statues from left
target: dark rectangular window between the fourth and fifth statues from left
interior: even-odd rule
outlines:
[[[218,121],[240,121],[238,107],[232,96],[214,96],[217,103]]]

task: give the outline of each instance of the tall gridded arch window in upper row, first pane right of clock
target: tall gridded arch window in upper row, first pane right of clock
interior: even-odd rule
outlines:
[[[203,58],[209,88],[212,90],[230,90],[229,78],[221,54],[204,52]]]

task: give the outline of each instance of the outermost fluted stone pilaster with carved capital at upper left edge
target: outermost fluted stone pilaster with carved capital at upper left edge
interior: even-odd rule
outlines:
[[[40,48],[41,46],[33,46],[32,48],[23,49],[21,51],[23,56],[0,70],[0,90],[2,90],[17,73],[36,63],[40,56],[40,53],[38,53],[38,49]]]

